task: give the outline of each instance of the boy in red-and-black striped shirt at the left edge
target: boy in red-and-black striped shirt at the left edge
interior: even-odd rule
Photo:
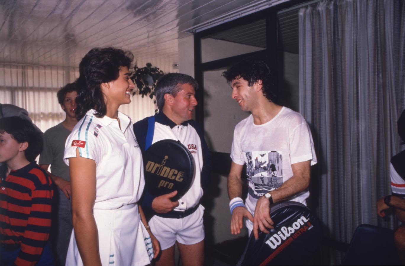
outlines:
[[[0,119],[0,265],[53,265],[53,189],[34,161],[42,134],[20,117]]]

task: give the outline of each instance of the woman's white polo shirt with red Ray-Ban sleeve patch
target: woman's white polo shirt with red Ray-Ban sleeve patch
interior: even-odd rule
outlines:
[[[130,117],[118,112],[121,121],[98,118],[90,110],[66,139],[64,161],[80,156],[96,162],[96,199],[94,209],[113,210],[134,204],[145,186],[141,149]]]

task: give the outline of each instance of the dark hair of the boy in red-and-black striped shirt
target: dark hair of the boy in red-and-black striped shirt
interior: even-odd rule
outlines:
[[[34,125],[27,119],[18,116],[3,117],[0,119],[0,133],[7,132],[17,143],[28,142],[28,148],[24,151],[29,162],[33,162],[42,151],[42,133],[38,132]]]

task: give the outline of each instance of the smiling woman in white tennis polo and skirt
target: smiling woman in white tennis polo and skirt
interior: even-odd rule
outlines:
[[[130,52],[90,50],[79,64],[79,122],[66,140],[73,232],[66,265],[146,265],[159,252],[141,198],[145,179],[131,119],[120,113],[135,88]],[[153,249],[152,249],[153,247]]]

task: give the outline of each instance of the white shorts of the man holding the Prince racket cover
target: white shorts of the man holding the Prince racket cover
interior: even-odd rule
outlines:
[[[158,238],[162,250],[173,246],[176,241],[184,245],[193,245],[204,240],[203,224],[204,207],[198,206],[196,211],[184,218],[163,218],[154,215],[149,226]]]

